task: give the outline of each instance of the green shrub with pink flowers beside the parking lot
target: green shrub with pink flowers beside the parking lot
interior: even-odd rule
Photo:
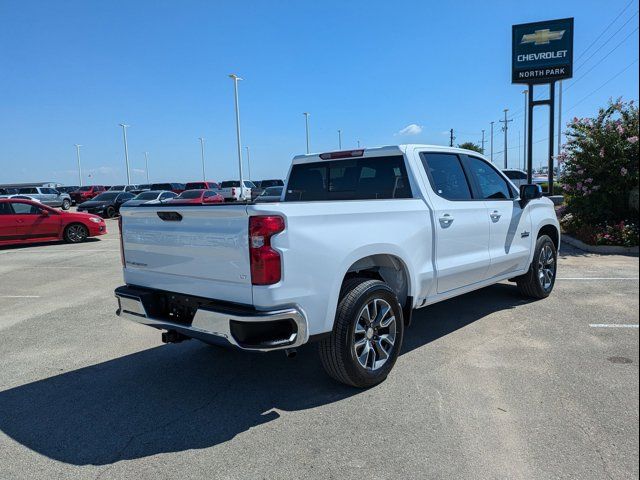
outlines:
[[[638,107],[609,102],[595,118],[574,118],[566,135],[563,229],[593,244],[637,245],[637,224],[627,219],[638,216],[629,205],[638,187]]]

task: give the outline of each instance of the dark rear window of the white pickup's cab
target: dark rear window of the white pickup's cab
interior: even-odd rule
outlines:
[[[402,155],[295,165],[285,201],[411,198]]]

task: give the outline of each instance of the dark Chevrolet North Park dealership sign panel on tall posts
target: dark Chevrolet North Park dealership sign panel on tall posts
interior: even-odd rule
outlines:
[[[512,83],[550,83],[573,76],[573,18],[512,26]]]

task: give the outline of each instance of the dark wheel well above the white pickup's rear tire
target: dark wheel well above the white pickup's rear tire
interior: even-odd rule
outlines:
[[[407,269],[398,257],[379,254],[361,258],[349,267],[342,283],[354,277],[365,277],[385,282],[398,297],[403,307],[409,296],[409,275]]]

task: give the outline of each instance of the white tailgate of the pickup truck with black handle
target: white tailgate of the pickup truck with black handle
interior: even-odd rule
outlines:
[[[129,285],[252,303],[244,205],[124,207]]]

